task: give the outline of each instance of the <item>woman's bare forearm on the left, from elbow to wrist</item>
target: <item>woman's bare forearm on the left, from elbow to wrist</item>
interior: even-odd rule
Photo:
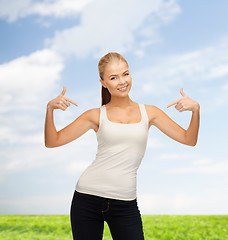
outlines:
[[[45,146],[46,147],[54,147],[54,143],[57,140],[57,131],[54,124],[54,109],[52,109],[49,104],[47,105],[46,111],[46,119],[45,119]]]

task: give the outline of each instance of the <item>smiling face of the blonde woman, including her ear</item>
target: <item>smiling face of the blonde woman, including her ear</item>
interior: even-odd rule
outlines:
[[[124,61],[113,60],[105,67],[101,84],[108,89],[112,96],[125,96],[132,84],[128,65]]]

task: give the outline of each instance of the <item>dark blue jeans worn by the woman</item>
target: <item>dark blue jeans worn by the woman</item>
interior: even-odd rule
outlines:
[[[104,221],[113,240],[144,240],[137,198],[125,201],[75,191],[70,218],[74,240],[102,240]]]

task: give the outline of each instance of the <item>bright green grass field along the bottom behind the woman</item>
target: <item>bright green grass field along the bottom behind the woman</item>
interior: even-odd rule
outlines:
[[[228,215],[142,215],[145,240],[228,240]],[[67,215],[0,216],[0,240],[67,240]],[[105,222],[103,240],[111,240]],[[130,240],[130,239],[126,239]]]

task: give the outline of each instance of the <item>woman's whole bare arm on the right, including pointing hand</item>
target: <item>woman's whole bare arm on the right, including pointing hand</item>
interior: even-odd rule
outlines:
[[[181,90],[181,94],[184,96],[182,99],[174,101],[167,107],[177,104],[175,108],[180,112],[185,110],[192,111],[192,118],[188,129],[185,130],[182,128],[180,125],[174,122],[165,112],[155,106],[150,106],[150,110],[153,112],[151,124],[155,125],[164,134],[174,139],[175,141],[183,143],[185,145],[195,146],[197,143],[199,131],[200,106],[199,103],[187,97],[187,95],[183,93],[183,90]]]

